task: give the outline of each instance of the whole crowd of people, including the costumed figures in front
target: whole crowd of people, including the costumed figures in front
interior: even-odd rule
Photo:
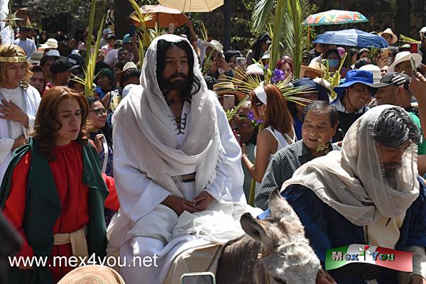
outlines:
[[[87,31],[20,28],[0,45],[0,205],[21,238],[16,256],[120,256],[126,283],[179,283],[214,272],[220,248],[244,234],[241,215],[268,220],[279,190],[322,264],[316,283],[426,283],[426,27],[415,51],[390,28],[374,56],[313,45],[300,70],[289,55],[270,62],[269,35],[224,51],[187,28],[153,39],[142,65],[138,35],[105,28],[90,97]],[[327,249],[348,244],[410,251],[413,272],[324,271]],[[188,250],[192,261],[179,257]],[[9,283],[72,270],[14,266]]]

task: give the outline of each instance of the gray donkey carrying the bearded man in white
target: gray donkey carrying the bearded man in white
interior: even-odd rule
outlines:
[[[217,284],[315,284],[320,260],[299,217],[278,190],[271,194],[269,207],[268,219],[241,216],[246,234],[224,246]],[[258,253],[263,256],[258,258]]]

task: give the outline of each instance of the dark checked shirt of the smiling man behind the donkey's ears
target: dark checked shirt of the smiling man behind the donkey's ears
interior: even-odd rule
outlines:
[[[338,146],[333,144],[331,147],[330,150],[340,150]],[[268,209],[268,200],[271,192],[276,189],[281,190],[283,183],[293,176],[295,170],[314,158],[302,140],[275,153],[269,162],[265,175],[263,175],[261,188],[254,197],[255,207],[263,210]]]

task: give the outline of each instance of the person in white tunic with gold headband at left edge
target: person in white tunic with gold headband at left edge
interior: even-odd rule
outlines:
[[[28,140],[40,94],[29,85],[31,65],[18,45],[0,45],[0,181],[13,151]]]

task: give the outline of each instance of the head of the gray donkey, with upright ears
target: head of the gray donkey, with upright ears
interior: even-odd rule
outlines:
[[[314,284],[320,260],[305,238],[299,217],[278,190],[269,199],[271,216],[264,220],[244,214],[241,226],[262,246],[260,261],[271,283]]]

